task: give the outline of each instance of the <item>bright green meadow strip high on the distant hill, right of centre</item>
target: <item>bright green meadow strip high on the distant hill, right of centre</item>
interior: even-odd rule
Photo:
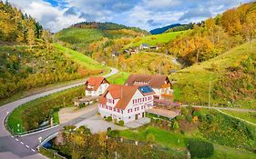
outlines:
[[[125,48],[128,47],[135,47],[141,44],[148,44],[148,45],[158,45],[158,44],[166,44],[170,40],[174,39],[177,35],[185,34],[187,31],[180,31],[180,32],[170,32],[170,33],[163,33],[160,35],[147,35],[144,37],[138,38],[131,42],[130,44],[126,45]]]

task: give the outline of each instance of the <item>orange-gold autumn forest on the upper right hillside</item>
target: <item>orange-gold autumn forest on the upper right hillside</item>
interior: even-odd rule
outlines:
[[[255,30],[256,3],[253,2],[194,25],[188,34],[170,41],[167,47],[171,55],[193,65],[250,42],[255,38]]]

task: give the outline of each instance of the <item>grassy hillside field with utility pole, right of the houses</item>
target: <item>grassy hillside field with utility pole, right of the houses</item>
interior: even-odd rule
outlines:
[[[211,81],[211,105],[256,108],[256,100],[251,97],[255,95],[255,49],[255,41],[246,43],[207,62],[169,75],[176,81],[179,92],[176,100],[187,104],[208,104]]]

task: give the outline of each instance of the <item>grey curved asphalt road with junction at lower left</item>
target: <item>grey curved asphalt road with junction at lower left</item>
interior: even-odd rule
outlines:
[[[111,72],[108,75],[104,75],[104,77],[108,77],[111,75],[115,75],[118,73],[118,70],[115,68],[111,68]],[[78,85],[85,84],[84,82],[79,84],[70,84],[61,88],[57,88],[51,91],[46,91],[40,94],[34,94],[28,96],[26,98],[17,100],[15,102],[5,104],[0,107],[0,159],[43,159],[46,158],[42,154],[39,154],[36,151],[36,146],[38,144],[38,137],[42,137],[43,140],[50,134],[56,133],[58,130],[62,129],[63,126],[67,124],[77,124],[78,122],[84,120],[87,117],[92,116],[97,113],[97,107],[93,109],[91,112],[84,114],[82,116],[78,116],[71,122],[67,124],[60,124],[54,128],[48,129],[46,131],[36,133],[36,134],[28,134],[23,137],[15,137],[12,136],[6,129],[4,125],[5,117],[8,113],[12,112],[16,107],[21,104],[26,104],[27,102],[33,101],[36,98],[40,98],[46,96],[48,94],[54,94],[56,92],[64,91],[68,88],[76,87]]]

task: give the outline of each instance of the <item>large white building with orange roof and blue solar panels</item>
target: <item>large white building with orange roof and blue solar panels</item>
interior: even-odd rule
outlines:
[[[98,112],[102,117],[128,123],[145,116],[145,111],[153,106],[154,94],[148,85],[110,84],[98,98]]]

